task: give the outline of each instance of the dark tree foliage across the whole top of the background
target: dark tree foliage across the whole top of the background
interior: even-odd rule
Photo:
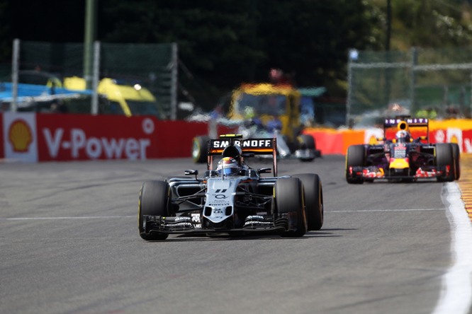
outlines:
[[[176,42],[193,81],[214,94],[242,81],[266,81],[273,67],[293,74],[299,86],[337,93],[349,49],[385,49],[389,23],[388,0],[96,1],[97,40]],[[392,50],[470,45],[468,1],[390,2]],[[0,46],[6,47],[0,61],[11,62],[13,38],[82,42],[84,4],[0,0],[0,17],[8,22],[0,26]]]

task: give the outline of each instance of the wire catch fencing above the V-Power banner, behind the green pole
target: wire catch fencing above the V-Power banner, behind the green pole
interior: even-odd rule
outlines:
[[[66,77],[78,76],[86,79],[87,87],[92,91],[96,91],[99,80],[103,78],[130,86],[139,83],[154,95],[168,119],[176,119],[179,61],[175,43],[95,42],[87,48],[89,51],[82,43],[16,40],[14,46],[12,76],[18,75],[19,83],[45,84],[51,77],[62,81]],[[86,55],[93,58],[89,60]]]

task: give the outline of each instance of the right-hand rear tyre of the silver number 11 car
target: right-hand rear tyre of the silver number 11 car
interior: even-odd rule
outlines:
[[[303,173],[292,175],[292,178],[298,178],[303,183],[308,231],[320,230],[324,219],[323,190],[320,176],[315,173]]]

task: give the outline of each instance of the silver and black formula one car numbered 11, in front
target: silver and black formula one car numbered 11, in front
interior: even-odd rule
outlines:
[[[272,168],[250,168],[245,160],[272,156]],[[213,158],[220,156],[218,167]],[[323,197],[315,173],[277,176],[276,139],[240,134],[208,141],[208,170],[185,170],[189,178],[146,181],[139,197],[138,228],[145,240],[172,233],[244,235],[254,232],[300,237],[320,230]],[[273,173],[274,177],[262,176]]]

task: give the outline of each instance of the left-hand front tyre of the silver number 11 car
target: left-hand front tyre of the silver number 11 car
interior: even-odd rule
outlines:
[[[146,181],[142,183],[137,209],[137,223],[141,238],[145,240],[165,240],[167,234],[146,234],[142,225],[144,216],[167,216],[169,205],[169,185],[164,181]]]

